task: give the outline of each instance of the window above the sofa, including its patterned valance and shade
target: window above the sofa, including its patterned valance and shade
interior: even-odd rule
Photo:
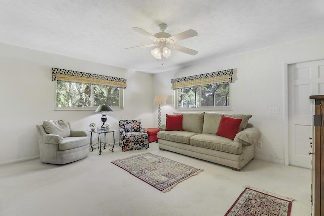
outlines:
[[[172,79],[175,109],[230,110],[233,70]]]

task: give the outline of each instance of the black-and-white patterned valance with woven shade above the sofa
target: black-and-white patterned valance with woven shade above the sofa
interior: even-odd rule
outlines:
[[[233,69],[171,79],[172,89],[232,83]]]

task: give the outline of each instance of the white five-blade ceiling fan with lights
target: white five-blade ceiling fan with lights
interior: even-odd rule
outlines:
[[[167,24],[161,23],[158,26],[159,26],[159,29],[161,30],[161,32],[158,32],[154,35],[148,33],[147,31],[145,31],[141,28],[137,28],[137,27],[132,28],[134,31],[153,40],[153,44],[141,45],[141,46],[136,46],[136,47],[155,47],[156,46],[156,48],[151,51],[152,56],[154,56],[156,59],[169,58],[171,56],[170,49],[174,49],[174,50],[177,50],[177,51],[180,51],[183,53],[187,53],[190,55],[196,55],[198,53],[198,51],[196,51],[196,50],[192,50],[192,49],[174,44],[174,42],[178,42],[180,40],[184,40],[184,39],[187,39],[190,37],[197,36],[198,33],[195,30],[189,29],[187,31],[184,31],[182,33],[172,36],[171,34],[165,32],[168,28]],[[136,47],[129,47],[129,48],[136,48]],[[125,48],[125,49],[129,49],[129,48]],[[164,64],[164,62],[162,64]]]

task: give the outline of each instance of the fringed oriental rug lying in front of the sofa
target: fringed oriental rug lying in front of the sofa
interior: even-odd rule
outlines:
[[[203,171],[151,153],[115,160],[112,163],[162,192],[171,190],[177,183]]]

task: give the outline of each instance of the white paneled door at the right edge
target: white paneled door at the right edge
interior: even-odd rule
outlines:
[[[324,60],[288,65],[289,164],[311,168],[310,95],[324,95]]]

